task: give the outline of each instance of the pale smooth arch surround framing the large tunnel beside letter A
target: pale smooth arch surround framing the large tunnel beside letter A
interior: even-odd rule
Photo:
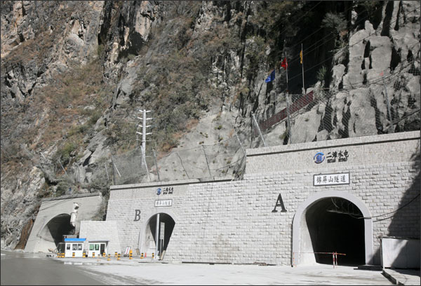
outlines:
[[[316,262],[314,254],[305,254],[305,252],[314,252],[311,229],[307,225],[306,214],[312,207],[320,207],[323,205],[323,200],[328,198],[340,198],[347,200],[358,209],[363,220],[363,245],[364,245],[364,262],[365,264],[373,263],[373,220],[366,205],[364,205],[359,198],[351,193],[343,191],[324,191],[316,193],[305,200],[304,203],[298,207],[297,212],[293,218],[293,247],[292,247],[292,264],[311,264]],[[319,205],[319,206],[318,206]],[[314,210],[312,210],[314,211]]]

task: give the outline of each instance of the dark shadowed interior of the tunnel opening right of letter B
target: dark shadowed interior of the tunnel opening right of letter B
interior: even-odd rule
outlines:
[[[155,214],[151,219],[149,219],[149,228],[151,229],[152,236],[156,242],[156,217]],[[168,247],[168,243],[170,242],[171,234],[173,233],[173,229],[175,226],[174,219],[163,212],[159,214],[159,243],[158,243],[158,251],[161,254],[165,251]]]

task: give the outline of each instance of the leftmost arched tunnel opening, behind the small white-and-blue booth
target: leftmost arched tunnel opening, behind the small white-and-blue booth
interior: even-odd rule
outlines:
[[[59,214],[44,226],[40,236],[44,240],[44,245],[49,243],[48,248],[55,248],[62,242],[63,236],[73,233],[74,226],[70,224],[70,214]]]

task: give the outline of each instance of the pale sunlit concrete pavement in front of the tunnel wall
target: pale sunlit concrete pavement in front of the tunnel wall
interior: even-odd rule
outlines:
[[[65,264],[85,271],[110,285],[393,285],[382,271],[352,266],[264,266],[258,264],[166,264],[150,257],[64,258]]]

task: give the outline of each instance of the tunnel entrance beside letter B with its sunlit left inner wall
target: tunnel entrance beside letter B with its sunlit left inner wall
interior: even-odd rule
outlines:
[[[158,233],[156,233],[157,226]],[[163,259],[168,243],[170,242],[174,226],[174,219],[164,212],[154,214],[154,216],[149,219],[145,231],[145,241],[148,243],[147,247],[149,247],[149,254],[152,252],[155,254],[157,253],[157,256],[159,256],[160,259]],[[156,234],[158,234],[157,237]],[[158,245],[158,252],[156,252],[156,244]]]

